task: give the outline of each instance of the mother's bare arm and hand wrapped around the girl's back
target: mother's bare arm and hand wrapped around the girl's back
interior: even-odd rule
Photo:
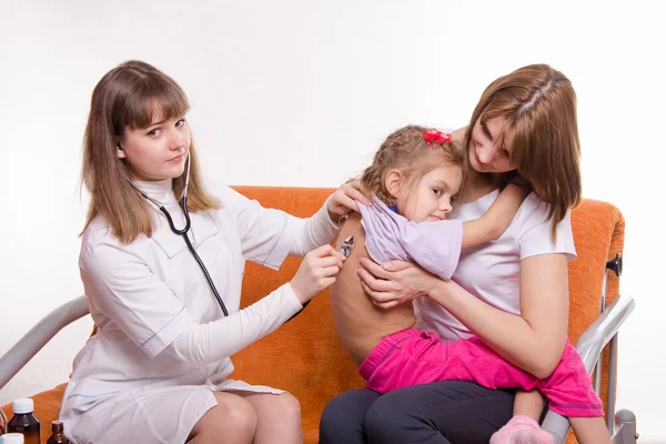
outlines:
[[[568,322],[567,256],[541,254],[521,261],[521,316],[477,299],[454,281],[442,281],[417,265],[362,261],[364,290],[390,307],[427,294],[502,357],[547,377],[559,362]],[[373,276],[374,275],[374,276]]]

